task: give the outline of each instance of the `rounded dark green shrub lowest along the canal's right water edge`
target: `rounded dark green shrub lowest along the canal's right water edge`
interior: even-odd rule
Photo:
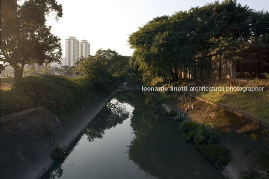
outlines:
[[[198,145],[198,149],[209,161],[217,164],[218,167],[226,166],[231,160],[230,151],[220,144]]]

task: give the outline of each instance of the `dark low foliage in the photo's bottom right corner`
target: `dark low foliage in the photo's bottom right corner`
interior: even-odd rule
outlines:
[[[238,178],[239,179],[266,179],[266,178],[269,178],[269,171],[268,169],[258,170],[258,169],[244,168],[239,171]]]

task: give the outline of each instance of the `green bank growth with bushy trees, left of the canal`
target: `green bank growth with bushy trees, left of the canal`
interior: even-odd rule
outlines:
[[[109,69],[104,68],[108,61]],[[121,63],[120,67],[125,71],[120,69],[117,63]],[[88,96],[90,91],[102,95],[114,89],[121,81],[120,78],[126,75],[127,65],[127,57],[109,49],[100,49],[95,56],[83,59],[80,64],[80,77],[25,77],[11,90],[1,90],[1,115],[31,107],[46,107],[63,121],[92,100]],[[92,73],[98,70],[99,73]]]

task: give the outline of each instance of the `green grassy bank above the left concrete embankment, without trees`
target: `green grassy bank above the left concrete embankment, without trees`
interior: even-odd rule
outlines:
[[[91,101],[89,91],[105,94],[118,81],[114,78],[110,84],[96,84],[82,77],[25,77],[11,90],[1,90],[1,116],[32,107],[46,107],[64,121]]]

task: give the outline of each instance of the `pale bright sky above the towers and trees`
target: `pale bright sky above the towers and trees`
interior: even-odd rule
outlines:
[[[90,54],[102,49],[112,49],[121,55],[131,56],[128,36],[138,31],[155,17],[201,7],[214,0],[58,0],[63,6],[63,17],[58,22],[49,20],[52,33],[62,39],[65,57],[65,39],[74,36],[78,40],[88,40]],[[251,9],[269,10],[268,0],[238,0]]]

